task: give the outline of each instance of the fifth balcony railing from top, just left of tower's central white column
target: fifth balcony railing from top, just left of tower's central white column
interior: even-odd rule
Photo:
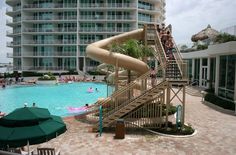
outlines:
[[[76,56],[76,52],[33,52],[33,57],[57,57],[57,56]]]

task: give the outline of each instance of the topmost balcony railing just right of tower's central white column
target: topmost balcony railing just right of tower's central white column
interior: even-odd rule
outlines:
[[[80,3],[80,8],[136,8],[135,3]]]

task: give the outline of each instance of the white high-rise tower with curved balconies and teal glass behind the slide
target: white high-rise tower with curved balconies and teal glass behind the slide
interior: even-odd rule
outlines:
[[[6,0],[15,71],[88,71],[91,43],[165,20],[165,0]]]

